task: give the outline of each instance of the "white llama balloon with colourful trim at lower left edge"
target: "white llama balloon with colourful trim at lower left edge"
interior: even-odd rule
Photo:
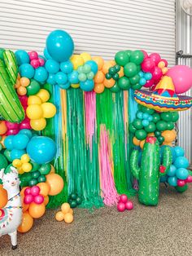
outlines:
[[[7,205],[0,209],[0,236],[11,236],[12,249],[17,248],[17,227],[20,226],[22,218],[22,206],[20,200],[20,179],[17,170],[11,167],[7,174],[4,169],[0,170],[2,186],[7,190]]]

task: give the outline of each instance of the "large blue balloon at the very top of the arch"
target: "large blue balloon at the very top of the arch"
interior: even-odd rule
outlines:
[[[55,30],[46,38],[46,48],[54,60],[63,62],[72,56],[74,43],[67,32]]]

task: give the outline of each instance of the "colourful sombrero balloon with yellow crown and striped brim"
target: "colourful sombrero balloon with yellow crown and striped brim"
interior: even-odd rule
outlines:
[[[135,90],[134,99],[146,108],[153,108],[160,112],[182,111],[192,106],[192,98],[178,96],[172,78],[162,77],[154,91]]]

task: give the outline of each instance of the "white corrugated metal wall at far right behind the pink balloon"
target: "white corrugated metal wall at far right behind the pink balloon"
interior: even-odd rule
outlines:
[[[191,11],[192,12],[192,11]],[[192,55],[192,17],[186,15],[181,9],[180,1],[177,1],[177,27],[176,27],[176,46],[177,51],[183,51],[184,55]],[[177,64],[185,64],[192,68],[192,58],[178,58]],[[192,90],[185,95],[192,96]],[[178,145],[185,149],[185,155],[192,163],[192,111],[180,113],[178,121]]]

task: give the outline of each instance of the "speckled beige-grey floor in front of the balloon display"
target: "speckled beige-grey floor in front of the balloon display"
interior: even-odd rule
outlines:
[[[191,255],[192,186],[178,194],[161,188],[158,207],[137,203],[119,213],[116,207],[76,209],[72,224],[55,221],[56,210],[46,210],[33,229],[19,234],[16,251],[8,236],[0,239],[0,255]]]

